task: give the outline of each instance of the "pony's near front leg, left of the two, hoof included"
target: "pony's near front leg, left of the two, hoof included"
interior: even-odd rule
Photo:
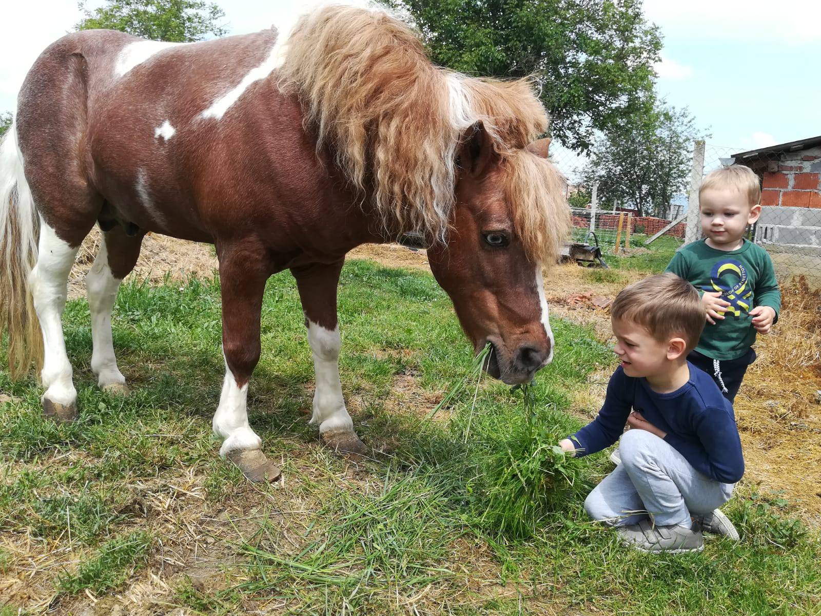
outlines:
[[[259,316],[270,271],[261,255],[264,252],[254,250],[251,242],[218,246],[226,370],[212,426],[214,434],[224,439],[221,456],[240,467],[248,479],[271,481],[280,476],[279,468],[262,453],[262,439],[251,430],[246,407],[251,373],[259,361]]]

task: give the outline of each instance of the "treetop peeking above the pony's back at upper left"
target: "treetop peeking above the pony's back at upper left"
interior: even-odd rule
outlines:
[[[205,0],[107,0],[94,11],[89,11],[84,1],[80,2],[80,11],[84,17],[76,30],[105,28],[175,43],[227,33],[219,23],[225,11]]]

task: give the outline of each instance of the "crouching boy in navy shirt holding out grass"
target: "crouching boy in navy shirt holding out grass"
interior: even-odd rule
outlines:
[[[704,329],[699,293],[675,274],[645,278],[619,293],[611,319],[621,365],[599,416],[560,443],[586,456],[621,437],[621,464],[585,510],[647,552],[698,551],[703,531],[737,539],[718,511],[744,473],[732,404],[687,361]]]

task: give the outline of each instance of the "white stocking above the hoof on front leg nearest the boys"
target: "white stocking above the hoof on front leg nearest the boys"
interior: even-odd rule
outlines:
[[[314,392],[314,414],[310,424],[319,424],[319,432],[328,430],[353,431],[354,422],[345,408],[342,397],[342,383],[339,380],[339,326],[325,329],[308,322],[308,343],[314,356],[316,391]]]

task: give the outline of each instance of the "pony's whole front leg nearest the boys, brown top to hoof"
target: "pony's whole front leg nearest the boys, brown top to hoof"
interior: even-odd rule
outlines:
[[[314,264],[291,269],[300,291],[308,342],[314,357],[316,391],[310,423],[319,426],[323,443],[342,454],[362,455],[367,451],[354,431],[345,408],[339,380],[339,324],[337,322],[337,285],[344,261]]]

